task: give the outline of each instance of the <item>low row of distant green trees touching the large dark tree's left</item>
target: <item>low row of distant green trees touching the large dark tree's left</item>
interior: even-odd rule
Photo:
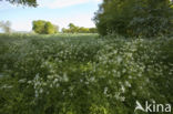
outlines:
[[[63,33],[96,33],[96,28],[77,27],[73,23],[69,24],[69,29],[62,28]]]

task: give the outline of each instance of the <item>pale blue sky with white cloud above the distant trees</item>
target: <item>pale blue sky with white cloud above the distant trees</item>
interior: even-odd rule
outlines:
[[[37,0],[37,8],[13,6],[0,1],[0,21],[10,21],[14,31],[31,31],[33,20],[51,21],[61,28],[69,23],[79,27],[95,27],[94,12],[102,0]]]

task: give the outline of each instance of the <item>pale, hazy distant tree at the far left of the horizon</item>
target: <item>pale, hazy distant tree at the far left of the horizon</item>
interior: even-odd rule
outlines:
[[[11,22],[10,21],[7,21],[7,22],[1,21],[0,28],[2,29],[2,31],[4,33],[10,33],[11,32]]]

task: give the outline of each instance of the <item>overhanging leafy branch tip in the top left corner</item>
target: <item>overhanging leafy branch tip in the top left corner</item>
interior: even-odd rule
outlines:
[[[0,0],[3,1],[3,0]],[[4,0],[12,4],[22,4],[22,6],[29,6],[29,7],[37,7],[37,0]]]

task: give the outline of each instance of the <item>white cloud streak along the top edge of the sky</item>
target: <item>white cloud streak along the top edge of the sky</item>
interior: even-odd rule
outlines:
[[[86,2],[100,3],[101,1],[102,0],[39,0],[38,3],[40,7],[55,9],[55,8],[65,8],[75,4],[82,4]]]

